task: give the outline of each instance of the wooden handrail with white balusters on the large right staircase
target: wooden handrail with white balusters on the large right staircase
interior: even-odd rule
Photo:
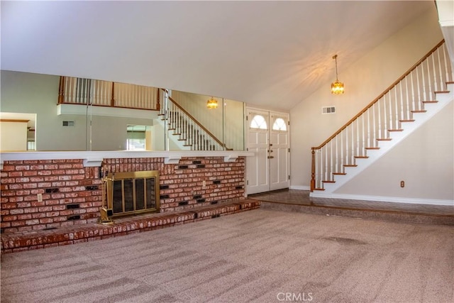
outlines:
[[[323,182],[334,182],[334,175],[345,175],[345,167],[356,166],[355,159],[366,158],[368,149],[390,140],[389,132],[402,131],[402,123],[425,112],[424,103],[433,102],[435,93],[453,82],[447,54],[442,40],[353,119],[311,148],[311,192],[323,189]]]

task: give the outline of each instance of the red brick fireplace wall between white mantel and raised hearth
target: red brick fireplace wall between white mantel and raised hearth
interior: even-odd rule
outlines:
[[[105,159],[110,172],[159,170],[160,211],[178,211],[244,196],[245,160],[222,157]],[[206,186],[203,187],[203,181]],[[96,222],[101,207],[99,167],[82,160],[5,161],[1,170],[2,232]],[[42,194],[43,202],[38,202]]]

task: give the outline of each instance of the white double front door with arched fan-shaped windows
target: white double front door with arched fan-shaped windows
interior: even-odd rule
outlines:
[[[247,109],[246,193],[289,187],[289,115]]]

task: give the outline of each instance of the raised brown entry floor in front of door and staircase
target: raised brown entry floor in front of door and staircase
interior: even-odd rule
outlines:
[[[363,211],[386,211],[431,216],[453,216],[454,205],[428,205],[396,202],[374,202],[353,199],[328,199],[309,197],[308,190],[282,189],[275,192],[252,194],[248,199],[287,205],[315,206],[323,208],[350,209]]]

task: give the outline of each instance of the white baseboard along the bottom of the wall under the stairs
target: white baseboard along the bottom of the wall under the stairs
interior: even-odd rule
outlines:
[[[367,195],[361,195],[361,194],[329,194],[329,193],[323,193],[323,192],[311,192],[311,194],[309,194],[309,197],[330,198],[330,199],[351,199],[351,200],[379,201],[379,202],[393,202],[393,203],[408,203],[408,204],[428,204],[428,205],[454,206],[454,200],[420,199],[420,198],[407,198],[407,197],[367,196]]]

